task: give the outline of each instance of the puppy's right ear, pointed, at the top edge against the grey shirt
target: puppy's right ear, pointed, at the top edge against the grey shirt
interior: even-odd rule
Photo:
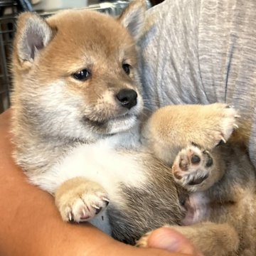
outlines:
[[[144,0],[134,0],[119,16],[119,21],[128,29],[136,41],[142,36],[145,12],[146,2]]]

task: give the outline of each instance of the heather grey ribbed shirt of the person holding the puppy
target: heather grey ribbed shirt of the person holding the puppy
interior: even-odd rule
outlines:
[[[146,107],[234,105],[250,122],[256,166],[256,1],[166,0],[140,42]]]

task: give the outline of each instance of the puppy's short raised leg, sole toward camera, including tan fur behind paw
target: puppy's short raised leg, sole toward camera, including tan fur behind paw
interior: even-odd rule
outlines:
[[[198,146],[188,146],[179,151],[172,166],[176,183],[191,192],[206,191],[220,180],[224,170],[218,149],[215,149],[215,153],[210,153]]]

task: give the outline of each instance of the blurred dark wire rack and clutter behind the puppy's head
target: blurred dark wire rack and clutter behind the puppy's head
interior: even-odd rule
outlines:
[[[119,15],[132,0],[0,0],[0,113],[10,106],[11,46],[15,33],[16,16],[21,11],[36,11],[41,16],[50,16],[60,9],[87,8],[112,16]],[[162,0],[146,0],[148,8]]]

